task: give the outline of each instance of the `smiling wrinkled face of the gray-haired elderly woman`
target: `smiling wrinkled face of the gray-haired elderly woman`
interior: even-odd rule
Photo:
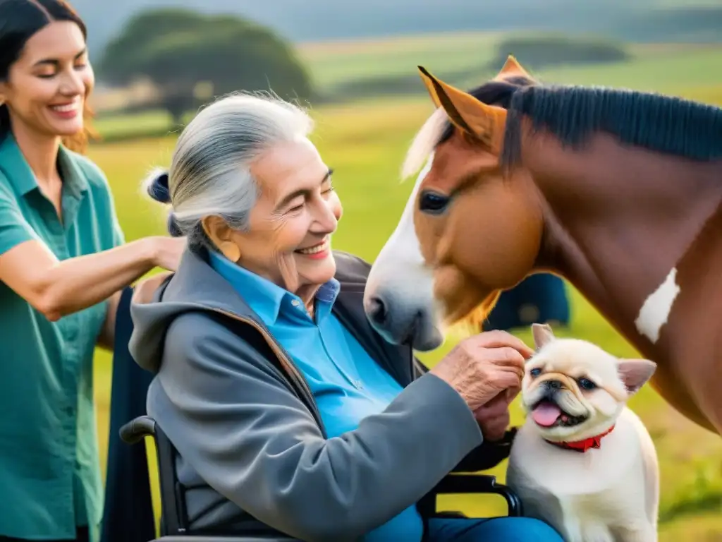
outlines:
[[[260,195],[250,228],[215,238],[219,248],[245,269],[295,293],[331,280],[336,272],[331,234],[342,206],[316,147],[308,139],[277,145],[256,160],[251,173]]]

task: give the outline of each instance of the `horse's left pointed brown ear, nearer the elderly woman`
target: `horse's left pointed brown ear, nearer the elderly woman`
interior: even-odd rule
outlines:
[[[449,120],[499,154],[504,140],[506,110],[480,102],[471,94],[437,79],[422,66],[419,66],[419,72],[431,99],[446,111]]]

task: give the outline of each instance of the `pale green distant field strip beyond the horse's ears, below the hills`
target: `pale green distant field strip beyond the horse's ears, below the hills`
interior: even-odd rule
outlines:
[[[388,38],[348,43],[310,43],[300,46],[300,57],[310,66],[314,82],[324,92],[335,87],[378,77],[405,77],[422,64],[439,77],[462,87],[478,85],[494,74],[489,63],[497,54],[497,43],[513,33],[452,33],[409,38]],[[560,83],[622,85],[640,90],[660,90],[657,85],[684,85],[718,81],[722,46],[629,44],[632,61],[596,64],[580,69],[544,70],[539,77]],[[393,54],[389,54],[393,51]],[[508,51],[513,53],[513,51]],[[519,58],[524,63],[523,58]],[[457,76],[470,71],[468,77]],[[452,75],[453,74],[453,75]]]

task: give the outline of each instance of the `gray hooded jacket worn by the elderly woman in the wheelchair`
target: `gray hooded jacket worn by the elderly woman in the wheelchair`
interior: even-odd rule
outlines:
[[[464,400],[410,348],[376,334],[362,307],[369,264],[334,254],[334,313],[404,391],[331,439],[291,356],[207,254],[186,251],[160,288],[137,289],[130,351],[155,373],[147,411],[178,449],[191,531],[357,540],[450,471],[508,455],[508,444],[482,446]]]

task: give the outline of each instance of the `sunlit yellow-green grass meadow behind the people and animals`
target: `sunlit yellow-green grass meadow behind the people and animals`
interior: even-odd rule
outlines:
[[[495,37],[488,34],[410,37],[300,48],[316,80],[332,87],[380,72],[405,77],[423,64],[443,77],[445,72],[474,69],[490,60]],[[636,46],[631,61],[594,66],[575,66],[539,72],[547,82],[631,87],[682,95],[722,105],[722,46]],[[487,56],[484,56],[487,54]],[[519,61],[523,64],[524,59]],[[500,66],[499,66],[500,67]],[[478,76],[458,82],[478,85],[492,75],[479,67]],[[399,168],[414,133],[432,111],[430,100],[418,82],[414,95],[358,100],[311,110],[317,127],[313,140],[323,158],[335,169],[334,179],[344,204],[344,217],[334,246],[373,260],[393,231],[411,190],[399,181]],[[106,137],[123,134],[118,142],[96,143],[90,157],[107,174],[113,187],[118,215],[131,240],[165,233],[166,210],[144,197],[140,181],[156,165],[168,165],[175,137],[129,138],[134,132],[164,130],[162,113],[142,116],[100,116],[97,127]],[[150,128],[149,128],[150,127]],[[573,335],[618,356],[635,351],[578,294],[572,292],[573,325],[562,335]],[[527,342],[529,332],[519,333]],[[438,351],[421,358],[435,364],[457,338],[451,337]],[[108,439],[111,360],[99,351],[96,358],[97,425],[101,458],[105,468]],[[650,387],[631,402],[645,421],[656,446],[661,466],[661,541],[722,540],[722,439],[686,421]],[[522,423],[515,405],[513,423]],[[419,443],[423,445],[423,443]],[[505,463],[493,470],[504,478]],[[469,514],[503,514],[495,497],[444,497],[445,509]]]

